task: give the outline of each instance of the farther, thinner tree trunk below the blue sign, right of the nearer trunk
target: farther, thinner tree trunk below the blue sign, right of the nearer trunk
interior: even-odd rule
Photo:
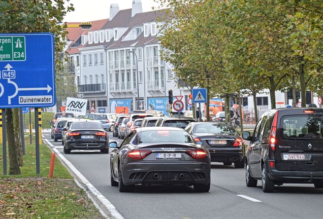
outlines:
[[[17,157],[19,166],[23,166],[23,158],[22,158],[22,142],[21,142],[21,131],[20,131],[20,109],[14,108],[12,109],[13,113],[13,123],[15,130],[15,141],[17,144]]]

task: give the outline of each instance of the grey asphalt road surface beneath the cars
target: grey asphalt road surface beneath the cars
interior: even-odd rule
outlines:
[[[61,141],[45,138],[63,154]],[[120,139],[112,137],[110,140]],[[284,184],[265,194],[245,184],[244,169],[213,163],[209,193],[192,187],[141,187],[120,193],[110,186],[110,155],[99,151],[72,151],[65,155],[75,168],[127,218],[322,218],[323,189],[311,184]],[[55,173],[54,173],[55,174]],[[241,197],[241,196],[242,197]]]

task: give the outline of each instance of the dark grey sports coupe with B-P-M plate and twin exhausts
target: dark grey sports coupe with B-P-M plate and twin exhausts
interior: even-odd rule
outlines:
[[[210,190],[210,154],[185,130],[171,127],[135,129],[120,147],[110,142],[111,186],[120,192],[141,185],[193,186]]]

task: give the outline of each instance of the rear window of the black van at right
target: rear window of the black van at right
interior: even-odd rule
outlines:
[[[295,115],[282,118],[284,138],[322,139],[322,115]]]

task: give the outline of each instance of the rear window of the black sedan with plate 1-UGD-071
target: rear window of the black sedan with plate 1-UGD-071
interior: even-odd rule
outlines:
[[[234,127],[227,123],[202,123],[195,126],[193,133],[235,134]]]

